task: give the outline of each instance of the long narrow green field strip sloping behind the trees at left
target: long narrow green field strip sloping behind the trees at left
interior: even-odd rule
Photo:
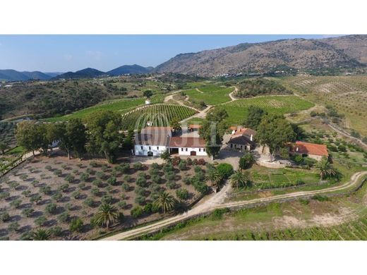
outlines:
[[[161,103],[163,102],[164,95],[157,94],[152,97],[151,101],[152,104]],[[95,111],[100,110],[109,110],[109,111],[119,111],[121,113],[126,113],[126,111],[130,111],[129,109],[142,105],[145,103],[145,98],[134,98],[134,99],[116,99],[116,100],[109,100],[107,102],[102,102],[95,106],[91,106],[85,108],[80,111],[76,111],[73,114],[66,115],[66,116],[59,116],[53,118],[47,118],[45,121],[54,122],[54,121],[68,121],[71,118],[84,118]]]

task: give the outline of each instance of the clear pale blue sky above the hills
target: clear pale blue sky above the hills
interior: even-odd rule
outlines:
[[[328,35],[0,35],[0,69],[109,71],[122,65],[157,66],[176,54],[244,42]]]

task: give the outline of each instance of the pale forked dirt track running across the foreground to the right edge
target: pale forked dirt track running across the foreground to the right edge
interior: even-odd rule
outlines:
[[[351,176],[350,181],[344,183],[343,185],[325,188],[323,190],[313,190],[313,191],[300,191],[296,193],[284,194],[284,195],[275,195],[272,197],[265,197],[253,200],[246,200],[246,201],[239,201],[239,202],[227,202],[224,203],[225,197],[230,190],[230,185],[227,183],[224,188],[222,188],[219,193],[216,193],[212,196],[209,200],[203,202],[202,204],[198,204],[197,207],[189,210],[184,214],[180,214],[178,216],[173,216],[168,219],[164,219],[162,221],[157,221],[155,224],[150,224],[148,226],[143,226],[141,228],[131,229],[129,231],[125,231],[122,233],[117,233],[114,236],[109,236],[102,240],[127,240],[131,238],[136,238],[138,236],[142,236],[149,233],[155,233],[160,231],[162,228],[167,226],[172,226],[180,221],[185,221],[187,219],[192,219],[195,216],[200,216],[203,214],[209,214],[215,209],[222,209],[222,208],[232,208],[232,209],[240,209],[245,207],[251,207],[258,204],[268,204],[270,202],[279,202],[279,201],[287,201],[287,200],[294,200],[301,197],[311,197],[313,195],[318,194],[325,194],[330,192],[336,191],[343,191],[348,190],[349,188],[353,188],[356,183],[358,183],[359,179],[363,176],[367,175],[367,171],[357,172]]]

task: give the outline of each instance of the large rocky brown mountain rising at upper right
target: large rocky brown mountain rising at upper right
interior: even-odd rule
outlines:
[[[316,69],[363,66],[367,66],[367,35],[349,35],[243,43],[179,54],[157,66],[154,71],[212,76],[225,73],[267,73],[284,67]]]

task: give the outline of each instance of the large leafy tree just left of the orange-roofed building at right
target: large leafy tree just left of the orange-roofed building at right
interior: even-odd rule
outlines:
[[[296,134],[288,121],[282,116],[275,115],[268,115],[262,119],[256,135],[260,145],[269,147],[271,159],[275,152],[295,138]]]

